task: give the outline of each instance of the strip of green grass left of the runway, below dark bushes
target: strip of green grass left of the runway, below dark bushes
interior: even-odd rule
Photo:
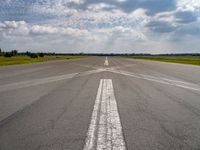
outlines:
[[[45,62],[50,60],[62,60],[62,59],[77,59],[86,58],[88,56],[45,56],[38,58],[30,58],[29,56],[15,56],[15,57],[3,57],[0,56],[0,66],[16,65],[16,64],[29,64],[36,62]]]

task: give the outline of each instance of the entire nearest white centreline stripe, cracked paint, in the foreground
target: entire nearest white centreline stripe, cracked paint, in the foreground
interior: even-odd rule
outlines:
[[[83,150],[126,150],[111,79],[101,79]]]

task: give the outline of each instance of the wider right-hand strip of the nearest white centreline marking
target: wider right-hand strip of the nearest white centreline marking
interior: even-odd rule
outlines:
[[[126,149],[111,79],[104,79],[96,149]]]

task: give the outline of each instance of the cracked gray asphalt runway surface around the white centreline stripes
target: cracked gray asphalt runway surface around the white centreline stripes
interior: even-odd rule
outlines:
[[[0,67],[0,150],[82,150],[112,79],[128,150],[200,149],[200,67],[91,57]]]

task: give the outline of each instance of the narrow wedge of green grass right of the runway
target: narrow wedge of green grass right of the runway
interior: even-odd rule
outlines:
[[[200,65],[200,56],[128,56],[128,58]]]

